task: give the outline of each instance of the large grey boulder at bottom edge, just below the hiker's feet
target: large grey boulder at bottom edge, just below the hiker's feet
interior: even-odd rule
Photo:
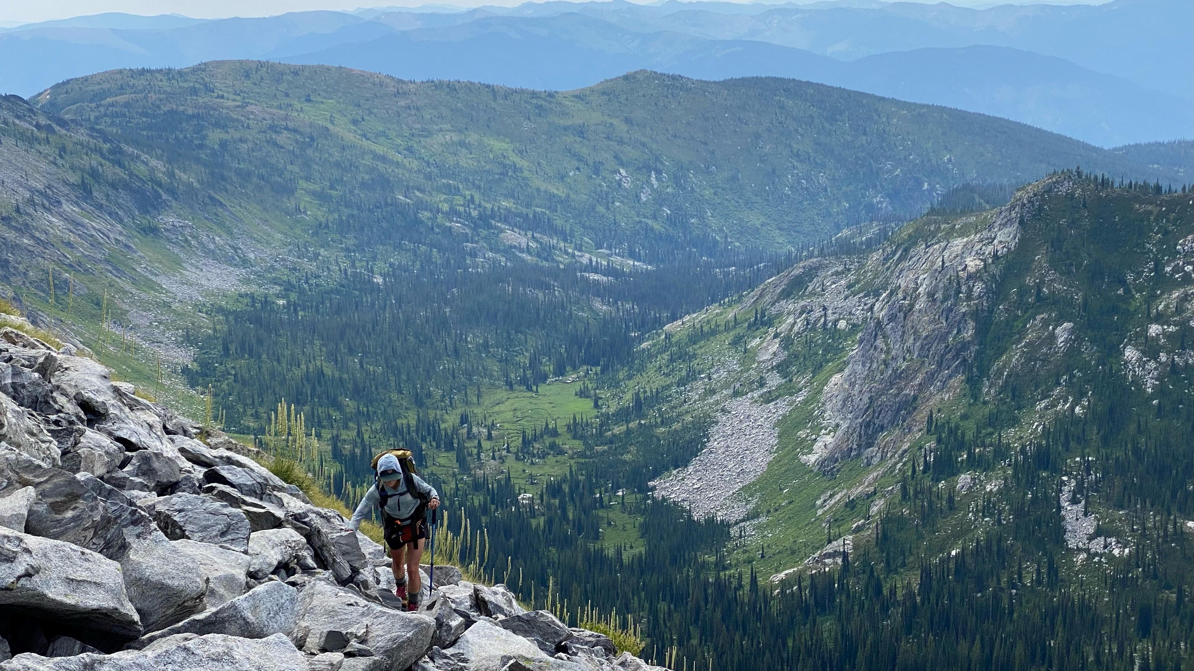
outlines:
[[[424,615],[400,612],[367,601],[358,593],[324,581],[309,583],[298,598],[295,645],[303,647],[320,632],[363,632],[356,642],[374,657],[357,657],[350,665],[359,671],[406,669],[431,647],[435,621]]]

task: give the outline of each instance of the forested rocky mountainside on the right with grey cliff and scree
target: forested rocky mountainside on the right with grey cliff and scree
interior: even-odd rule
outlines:
[[[537,603],[634,614],[648,658],[1181,669],[1194,209],[1165,191],[1058,174],[854,232],[602,374],[561,362],[388,439],[443,487],[463,560]],[[313,406],[336,463],[309,466],[351,499],[390,420]]]

